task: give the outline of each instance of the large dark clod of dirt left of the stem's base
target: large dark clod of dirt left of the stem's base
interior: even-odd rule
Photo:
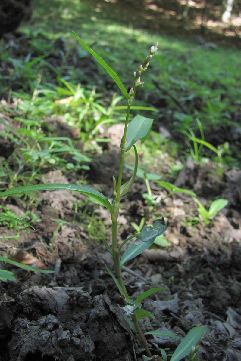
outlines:
[[[4,327],[8,332],[14,318],[11,361],[44,355],[48,360],[131,360],[128,323],[107,293],[91,297],[81,287],[35,286],[17,296],[12,310]]]

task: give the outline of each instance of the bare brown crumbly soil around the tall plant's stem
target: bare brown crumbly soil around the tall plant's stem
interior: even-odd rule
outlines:
[[[111,136],[114,134],[113,130]],[[94,182],[91,186],[109,198],[111,184],[102,182],[108,181],[107,168],[115,173],[113,160],[119,150],[113,144],[111,149],[96,155],[102,166],[96,167],[95,160],[89,172],[89,179]],[[160,174],[168,175],[170,159],[164,155],[158,165]],[[127,179],[130,174],[125,172]],[[69,175],[55,170],[43,175],[42,182],[75,183],[80,178],[72,174],[69,180]],[[205,226],[194,221],[198,211],[191,196],[178,193],[167,198],[155,217],[164,216],[168,223],[165,238],[169,246],[152,247],[126,263],[123,277],[127,290],[137,297],[149,288],[164,287],[142,302],[143,308],[155,316],[140,321],[143,331],[170,331],[182,339],[192,327],[206,325],[199,360],[240,360],[241,171],[225,167],[220,171],[220,166],[212,161],[202,165],[188,159],[176,185],[197,193],[206,208],[216,197],[224,197],[229,203]],[[166,195],[155,183],[151,183],[151,188],[156,198]],[[120,243],[134,234],[130,224],[139,224],[145,212],[145,191],[145,184],[137,178],[132,191],[124,196]],[[106,270],[105,265],[113,270],[111,256],[95,237],[98,222],[105,225],[108,237],[108,212],[96,206],[95,223],[92,206],[82,213],[82,205],[72,222],[73,204],[84,200],[86,197],[76,192],[45,191],[33,209],[39,218],[33,224],[35,230],[1,226],[1,255],[54,269],[55,273],[40,274],[6,266],[17,280],[0,283],[0,360],[132,361],[141,360],[145,354],[124,318],[123,300]],[[1,205],[17,214],[24,211],[23,204],[16,197],[1,200]],[[57,229],[59,223],[55,219],[66,223]],[[151,216],[149,223],[153,219]],[[18,238],[14,238],[16,235]],[[172,353],[180,342],[151,335],[147,340],[154,355],[160,348]]]

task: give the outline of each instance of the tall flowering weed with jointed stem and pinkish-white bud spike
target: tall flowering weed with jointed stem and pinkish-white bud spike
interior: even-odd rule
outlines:
[[[74,33],[73,33],[74,34]],[[114,79],[117,86],[120,88],[124,96],[126,97],[127,101],[127,111],[126,111],[126,118],[125,118],[125,127],[124,132],[120,142],[121,148],[121,155],[120,155],[120,164],[119,164],[119,175],[116,181],[115,177],[113,176],[113,203],[111,204],[109,200],[99,191],[96,191],[90,187],[85,187],[76,184],[37,184],[31,186],[23,186],[19,188],[14,188],[0,194],[0,197],[6,197],[9,195],[16,195],[18,193],[26,193],[31,191],[40,191],[40,190],[70,190],[70,191],[77,191],[88,195],[95,200],[98,200],[102,205],[104,205],[110,212],[111,220],[112,220],[112,247],[104,240],[103,243],[106,246],[108,252],[111,254],[113,258],[113,266],[115,270],[115,275],[112,271],[106,266],[109,274],[113,278],[117,288],[120,291],[120,295],[125,302],[124,311],[126,314],[126,319],[128,319],[129,324],[132,325],[132,329],[137,333],[139,339],[142,342],[143,347],[146,350],[146,355],[143,355],[144,360],[167,360],[167,355],[164,350],[160,351],[159,355],[152,355],[149,349],[149,345],[146,340],[146,335],[148,334],[155,334],[161,336],[169,336],[173,338],[178,338],[178,336],[165,332],[160,331],[149,331],[146,334],[143,334],[141,327],[139,326],[139,320],[145,317],[154,318],[152,314],[150,314],[147,310],[141,308],[141,302],[147,296],[151,295],[154,292],[158,292],[162,290],[162,287],[156,287],[149,289],[139,295],[135,300],[129,296],[128,291],[126,290],[124,280],[122,278],[122,266],[135,256],[140,255],[145,249],[149,248],[155,238],[159,235],[162,235],[167,226],[164,222],[163,218],[156,219],[152,225],[146,225],[140,232],[140,234],[135,234],[130,236],[121,245],[117,244],[117,221],[119,215],[119,206],[120,206],[120,198],[121,196],[125,195],[131,188],[134,179],[137,174],[138,168],[138,153],[137,148],[135,147],[135,143],[141,139],[143,142],[152,125],[153,119],[145,118],[141,115],[135,116],[132,121],[129,123],[129,114],[130,108],[132,106],[134,96],[136,91],[140,86],[143,86],[143,81],[141,80],[142,74],[147,70],[149,66],[149,62],[151,61],[152,57],[157,51],[157,44],[151,47],[150,55],[145,58],[142,65],[138,67],[136,71],[134,71],[134,85],[130,89],[129,92],[126,91],[126,88],[120,81],[120,78],[117,74],[104,62],[102,58],[100,58],[90,47],[88,47],[83,40],[79,39],[76,34],[74,34],[76,39],[83,45],[83,47],[95,57],[95,59],[103,66],[103,68],[108,72],[108,74]],[[128,125],[129,123],[129,125]],[[133,147],[135,153],[135,165],[132,177],[129,179],[128,182],[122,183],[122,170],[124,166],[124,157],[125,153],[128,152]],[[125,250],[125,252],[121,255],[122,247],[130,240],[134,241],[129,245],[129,247]],[[181,344],[177,347],[176,351],[173,353],[170,361],[179,361],[182,358],[186,357],[190,352],[193,352],[192,347],[195,347],[197,341],[201,338],[202,334],[206,331],[205,326],[194,327],[191,329],[186,337],[182,340]],[[162,355],[162,356],[160,356]],[[192,354],[193,355],[193,354]]]

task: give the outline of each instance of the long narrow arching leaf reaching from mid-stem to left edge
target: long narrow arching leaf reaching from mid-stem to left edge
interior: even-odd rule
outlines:
[[[78,186],[76,184],[68,184],[68,183],[66,183],[66,184],[65,183],[36,184],[33,186],[23,186],[23,187],[13,188],[13,189],[10,189],[9,191],[0,193],[0,198],[13,196],[18,193],[27,193],[27,192],[34,192],[34,191],[47,191],[47,190],[69,190],[69,191],[76,191],[79,193],[83,193],[83,194],[86,194],[87,196],[97,199],[110,212],[112,212],[112,210],[113,210],[108,199],[99,191],[96,191],[95,189],[92,189],[89,187]]]

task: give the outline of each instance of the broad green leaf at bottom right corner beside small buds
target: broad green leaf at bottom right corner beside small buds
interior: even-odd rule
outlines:
[[[193,327],[184,337],[182,342],[177,346],[170,361],[180,361],[191,351],[191,347],[195,346],[202,334],[205,334],[206,326]]]

